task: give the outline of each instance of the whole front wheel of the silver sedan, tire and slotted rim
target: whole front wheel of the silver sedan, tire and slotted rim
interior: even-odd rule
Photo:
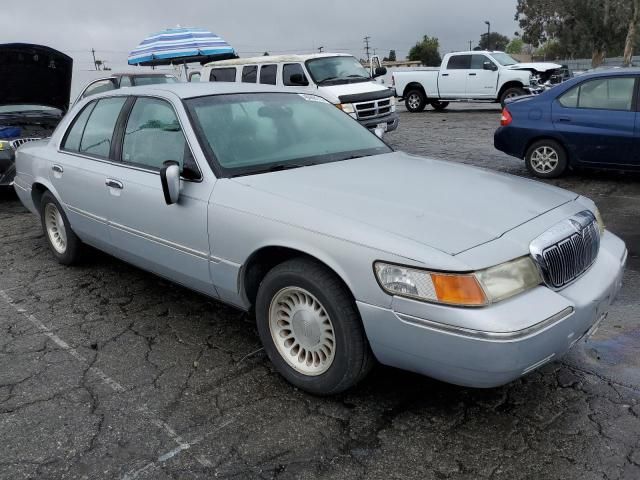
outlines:
[[[307,392],[347,390],[373,364],[353,297],[333,272],[315,261],[294,258],[265,276],[256,321],[276,370]]]

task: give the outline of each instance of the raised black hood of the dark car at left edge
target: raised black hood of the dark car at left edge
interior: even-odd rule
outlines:
[[[73,60],[42,45],[0,45],[0,105],[45,105],[66,111]]]

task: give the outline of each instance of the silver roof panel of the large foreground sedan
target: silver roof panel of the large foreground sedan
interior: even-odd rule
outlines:
[[[235,93],[304,93],[295,87],[275,87],[272,85],[256,85],[236,82],[195,82],[195,83],[163,83],[142,87],[127,87],[110,90],[89,98],[109,97],[116,95],[162,95],[174,94],[179,98],[195,98],[207,95],[230,95]]]

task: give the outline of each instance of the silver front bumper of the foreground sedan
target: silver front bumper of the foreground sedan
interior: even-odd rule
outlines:
[[[358,308],[381,363],[457,385],[497,387],[560,358],[606,318],[626,257],[624,242],[605,232],[593,266],[558,292],[540,286],[478,309],[399,297],[390,309]]]

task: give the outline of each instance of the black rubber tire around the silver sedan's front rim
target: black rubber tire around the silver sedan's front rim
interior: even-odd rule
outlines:
[[[326,371],[317,375],[305,374],[291,366],[279,350],[282,347],[276,346],[272,336],[270,327],[272,301],[276,297],[280,299],[282,292],[290,289],[296,291],[302,289],[315,297],[331,322],[335,339],[333,359],[330,366],[325,367]],[[277,309],[284,304],[274,303],[273,305],[273,308]],[[306,303],[302,302],[301,305],[305,306]],[[295,334],[294,321],[297,315],[298,313],[289,317],[291,318],[291,323],[288,325],[290,335]],[[256,321],[262,344],[276,370],[290,383],[309,393],[334,395],[343,392],[362,380],[373,366],[374,357],[353,297],[332,271],[313,260],[294,258],[277,265],[267,273],[258,289]],[[307,334],[311,328],[307,327],[307,320],[303,320],[303,324],[304,332]],[[273,335],[277,336],[277,333],[274,332]],[[281,336],[281,338],[285,337]],[[295,342],[302,343],[301,339],[296,338],[290,347],[285,348],[291,348],[293,352]],[[304,347],[302,350],[304,351]],[[297,360],[295,355],[297,353],[291,354],[289,361],[295,363]],[[304,367],[304,363],[301,362],[299,365]]]

